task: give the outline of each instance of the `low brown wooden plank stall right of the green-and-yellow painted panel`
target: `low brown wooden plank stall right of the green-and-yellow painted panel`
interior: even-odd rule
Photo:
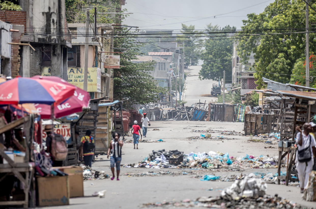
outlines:
[[[273,127],[275,126],[277,117],[278,115],[275,114],[245,114],[245,135],[274,132]]]

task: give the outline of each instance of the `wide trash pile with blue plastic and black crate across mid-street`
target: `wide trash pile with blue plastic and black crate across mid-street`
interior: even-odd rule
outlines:
[[[181,154],[176,150],[176,154],[173,156],[173,152],[166,152],[165,150],[153,151],[149,153],[149,157],[145,157],[142,162],[134,164],[133,167],[144,168],[277,168],[278,156],[269,157],[260,155],[254,157],[251,155],[240,157],[229,157],[228,153],[223,154],[220,152],[209,151],[208,153],[189,153]],[[172,158],[174,157],[174,158]],[[171,159],[174,159],[173,162]],[[172,162],[171,162],[172,161]],[[283,158],[281,166],[285,166],[286,157]],[[131,166],[131,165],[127,165]],[[126,167],[126,165],[125,165]]]

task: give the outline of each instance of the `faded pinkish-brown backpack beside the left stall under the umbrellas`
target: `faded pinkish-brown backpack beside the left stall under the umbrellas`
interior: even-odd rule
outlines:
[[[56,161],[64,161],[67,158],[67,143],[60,134],[52,134],[51,154]]]

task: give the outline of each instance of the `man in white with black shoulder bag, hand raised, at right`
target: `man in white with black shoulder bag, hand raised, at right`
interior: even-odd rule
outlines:
[[[297,133],[295,140],[297,143],[295,163],[298,178],[300,181],[301,193],[303,193],[304,189],[306,189],[307,187],[309,174],[313,170],[314,156],[316,157],[316,141],[315,138],[309,134],[310,132],[312,132],[312,126],[309,123],[304,123],[303,129],[304,130],[301,131],[299,128],[296,128],[296,130],[298,130],[299,132]],[[310,159],[304,158],[304,156],[307,155],[302,155],[303,157],[299,157],[299,152],[302,152],[305,149],[307,149],[307,152],[310,151]]]

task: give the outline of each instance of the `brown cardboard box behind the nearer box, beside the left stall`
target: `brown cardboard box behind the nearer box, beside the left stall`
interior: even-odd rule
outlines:
[[[80,166],[54,167],[68,174],[70,197],[83,197],[83,175]]]

